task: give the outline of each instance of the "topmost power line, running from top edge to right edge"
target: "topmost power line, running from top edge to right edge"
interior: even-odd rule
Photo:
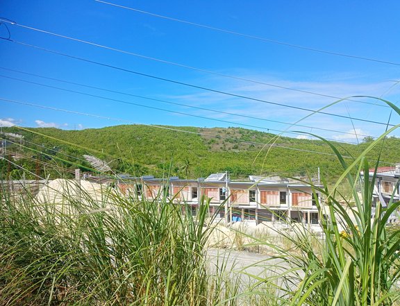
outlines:
[[[101,0],[95,0],[95,1],[97,1],[99,3],[108,4],[110,6],[116,6],[118,8],[124,8],[126,10],[133,10],[135,12],[140,12],[142,14],[151,15],[153,17],[168,19],[168,20],[172,20],[174,22],[181,22],[183,24],[190,24],[192,26],[199,26],[201,28],[208,28],[208,29],[213,30],[213,31],[219,31],[219,32],[223,32],[223,33],[238,35],[238,36],[247,37],[247,38],[252,38],[252,39],[261,40],[261,41],[264,41],[264,42],[270,42],[272,44],[281,44],[283,46],[290,46],[292,48],[303,49],[303,50],[308,50],[308,51],[314,51],[314,52],[319,52],[319,53],[326,53],[326,54],[330,54],[332,56],[342,56],[342,57],[346,57],[346,58],[356,58],[358,60],[368,60],[370,62],[380,62],[380,63],[383,63],[383,64],[400,66],[400,64],[397,63],[397,62],[389,62],[389,61],[386,61],[386,60],[376,60],[374,58],[365,58],[363,56],[351,56],[349,54],[338,53],[338,52],[333,52],[333,51],[326,51],[326,50],[322,50],[322,49],[315,49],[315,48],[311,48],[311,47],[308,47],[308,46],[300,46],[300,45],[297,45],[297,44],[289,44],[287,42],[281,42],[281,41],[278,41],[278,40],[269,40],[267,38],[256,36],[256,35],[247,35],[247,34],[244,34],[244,33],[239,33],[239,32],[235,32],[235,31],[226,30],[224,28],[216,28],[214,26],[207,26],[205,24],[197,24],[195,22],[188,22],[188,21],[182,20],[182,19],[176,19],[176,18],[164,16],[164,15],[154,14],[153,12],[147,12],[147,11],[144,11],[144,10],[138,10],[136,8],[129,8],[128,6],[120,6],[120,5],[115,4],[115,3],[110,3],[110,2],[101,1]]]

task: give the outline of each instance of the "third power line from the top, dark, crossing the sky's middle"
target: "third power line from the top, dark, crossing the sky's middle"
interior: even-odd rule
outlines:
[[[226,96],[234,96],[235,98],[247,99],[247,100],[250,100],[250,101],[256,101],[256,102],[266,103],[266,104],[270,104],[270,105],[278,105],[278,106],[282,106],[284,108],[292,108],[292,109],[295,109],[295,110],[303,110],[303,111],[306,111],[306,112],[311,112],[313,114],[315,114],[315,113],[326,114],[328,116],[339,117],[339,118],[344,118],[344,119],[353,119],[353,120],[356,120],[356,121],[363,121],[363,122],[368,122],[368,123],[371,123],[371,124],[380,124],[380,125],[383,125],[383,126],[394,126],[392,124],[386,124],[386,123],[379,122],[379,121],[360,119],[360,118],[356,118],[356,117],[351,118],[351,117],[344,116],[344,115],[341,115],[341,114],[333,114],[333,113],[330,113],[330,112],[322,112],[323,109],[325,109],[328,106],[331,106],[331,105],[333,105],[335,103],[338,103],[339,101],[337,101],[335,103],[331,103],[330,105],[325,106],[324,108],[320,108],[319,110],[311,110],[309,108],[300,108],[300,107],[294,106],[294,105],[285,105],[283,103],[276,103],[276,102],[272,102],[272,101],[266,101],[266,100],[262,100],[262,99],[251,98],[249,96],[243,96],[243,95],[240,95],[240,94],[232,94],[232,93],[229,93],[229,92],[223,92],[221,90],[213,90],[213,89],[210,89],[208,87],[192,85],[192,84],[189,84],[189,83],[184,83],[184,82],[180,82],[180,81],[177,81],[177,80],[171,80],[171,79],[168,79],[168,78],[161,78],[159,76],[153,76],[151,74],[143,74],[143,73],[138,72],[138,71],[133,71],[133,70],[130,70],[130,69],[125,69],[125,68],[117,67],[117,66],[113,66],[113,65],[108,65],[108,64],[104,64],[102,62],[96,62],[94,60],[88,60],[88,59],[85,59],[85,58],[79,58],[78,56],[71,56],[71,55],[66,54],[66,53],[62,53],[62,52],[59,52],[59,51],[53,51],[53,50],[50,50],[50,49],[42,48],[40,46],[35,46],[33,44],[27,44],[27,43],[19,42],[19,41],[16,41],[16,40],[8,40],[8,41],[9,42],[14,42],[16,44],[21,44],[23,46],[29,46],[29,47],[32,47],[34,49],[39,49],[39,50],[46,51],[46,52],[49,52],[49,53],[58,54],[60,56],[65,56],[67,58],[74,58],[76,60],[81,60],[83,62],[89,62],[91,64],[100,65],[100,66],[108,67],[108,68],[111,68],[111,69],[117,69],[119,71],[125,71],[125,72],[131,73],[131,74],[136,74],[138,76],[145,76],[147,78],[153,78],[153,79],[156,79],[156,80],[163,80],[165,82],[174,83],[174,84],[183,85],[183,86],[188,86],[188,87],[192,87],[192,88],[197,88],[199,90],[206,90],[208,92],[215,92],[217,94],[224,94]],[[342,100],[345,100],[345,99],[342,99]]]

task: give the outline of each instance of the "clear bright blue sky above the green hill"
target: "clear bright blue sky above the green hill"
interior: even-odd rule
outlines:
[[[370,122],[389,119],[381,101],[354,98],[324,109],[353,120],[303,119],[310,112],[299,108],[358,95],[399,102],[399,1],[108,2],[118,6],[0,1],[0,17],[16,23],[0,26],[12,40],[0,40],[1,126],[242,126],[357,142],[385,130]],[[392,114],[390,124],[398,121]]]

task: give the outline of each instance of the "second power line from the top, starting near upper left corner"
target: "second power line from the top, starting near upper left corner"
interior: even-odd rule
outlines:
[[[22,28],[27,28],[27,29],[32,30],[32,31],[38,31],[40,33],[45,33],[45,34],[53,35],[53,36],[56,36],[56,37],[62,37],[62,38],[65,38],[67,40],[73,40],[75,42],[81,42],[83,44],[89,44],[91,46],[97,46],[99,48],[107,49],[107,50],[110,50],[110,51],[116,51],[116,52],[119,52],[119,53],[128,54],[130,56],[136,56],[136,57],[139,57],[139,58],[145,58],[147,60],[153,60],[153,61],[156,61],[156,62],[162,62],[163,64],[174,65],[174,66],[183,67],[183,68],[186,68],[186,69],[192,69],[192,70],[195,70],[195,71],[201,71],[201,72],[205,72],[207,74],[213,74],[215,76],[222,76],[222,77],[225,77],[225,78],[233,78],[235,80],[244,80],[244,81],[249,82],[249,83],[267,85],[267,86],[270,86],[270,87],[281,88],[283,90],[292,90],[294,92],[302,92],[304,94],[313,94],[313,95],[316,95],[316,96],[324,96],[326,98],[342,99],[341,97],[331,96],[329,94],[320,94],[320,93],[317,93],[317,92],[310,92],[308,90],[297,90],[295,88],[285,87],[285,86],[281,86],[281,85],[275,85],[275,84],[271,84],[271,83],[265,83],[265,82],[261,82],[259,80],[251,80],[249,78],[241,78],[239,76],[231,76],[231,75],[228,75],[228,74],[221,74],[221,73],[218,73],[218,72],[215,72],[215,71],[210,71],[210,70],[207,70],[207,69],[201,69],[201,68],[192,67],[192,66],[189,66],[189,65],[183,65],[183,64],[180,64],[178,62],[171,62],[171,61],[168,61],[168,60],[162,60],[160,58],[152,58],[150,56],[144,56],[142,54],[133,53],[133,52],[126,51],[126,50],[113,48],[111,46],[105,46],[103,44],[97,44],[97,43],[94,43],[94,42],[89,42],[87,40],[80,40],[78,38],[69,37],[69,36],[66,36],[66,35],[61,35],[61,34],[53,33],[53,32],[50,32],[50,31],[44,31],[44,30],[42,30],[40,28],[33,28],[31,26],[25,26],[23,24],[17,24],[16,22],[9,21],[8,23],[10,23],[12,25],[15,25],[15,26],[22,27]],[[8,37],[7,40],[10,40],[10,37]],[[389,108],[388,105],[382,105],[382,104],[378,104],[378,103],[370,103],[370,102],[367,102],[367,101],[359,101],[359,100],[353,100],[353,99],[346,99],[346,100],[347,101],[356,102],[356,103],[365,103],[365,104],[370,104],[370,105],[376,105],[376,106],[383,107],[383,108]]]

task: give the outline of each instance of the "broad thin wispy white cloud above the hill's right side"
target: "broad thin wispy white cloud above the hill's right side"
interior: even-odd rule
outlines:
[[[351,99],[351,101],[335,103],[335,101],[338,101],[335,97],[381,96],[385,92],[387,93],[388,88],[391,90],[389,94],[392,97],[394,94],[400,93],[400,86],[391,87],[392,83],[388,81],[376,80],[369,76],[360,76],[358,74],[326,74],[326,77],[323,77],[324,75],[297,76],[290,79],[271,74],[249,74],[246,71],[240,71],[240,73],[236,74],[230,72],[222,73],[237,75],[251,80],[260,80],[262,83],[274,84],[277,87],[209,77],[206,80],[201,79],[201,81],[206,84],[209,83],[208,87],[210,88],[221,90],[222,92],[230,92],[238,96],[260,99],[264,103],[262,101],[243,99],[238,96],[216,94],[215,92],[192,92],[191,90],[179,95],[161,95],[159,98],[197,108],[216,110],[217,112],[209,112],[201,109],[188,110],[188,108],[176,107],[176,110],[180,112],[231,121],[238,125],[247,124],[249,128],[251,128],[250,126],[260,130],[269,128],[273,133],[274,130],[302,130],[330,140],[357,142],[357,139],[361,141],[366,135],[369,135],[369,133],[365,132],[366,130],[373,130],[373,136],[378,134],[378,130],[381,130],[381,125],[373,124],[372,121],[387,121],[390,108],[387,108],[387,105],[376,99],[358,97]],[[285,90],[282,87],[299,91]],[[311,94],[312,92],[318,94]],[[384,96],[390,99],[387,94]],[[334,104],[330,105],[330,103]],[[286,107],[285,105],[291,105],[294,108]],[[324,108],[321,112],[329,114],[320,112],[311,114],[299,108],[310,110]],[[218,111],[221,112],[218,113]],[[233,114],[238,114],[239,116]],[[303,120],[291,126],[299,119]],[[363,120],[365,121],[363,122]],[[356,126],[356,132],[352,129],[353,126]],[[313,137],[310,137],[310,139],[313,139]]]

